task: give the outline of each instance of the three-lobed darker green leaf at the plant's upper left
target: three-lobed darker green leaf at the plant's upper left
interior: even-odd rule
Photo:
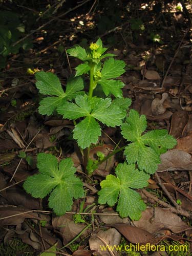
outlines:
[[[36,87],[39,89],[39,92],[53,96],[46,97],[40,101],[39,113],[42,115],[51,115],[58,106],[82,93],[80,92],[83,89],[81,77],[69,79],[66,92],[63,91],[58,77],[51,72],[40,71],[35,74],[35,77],[37,79]]]

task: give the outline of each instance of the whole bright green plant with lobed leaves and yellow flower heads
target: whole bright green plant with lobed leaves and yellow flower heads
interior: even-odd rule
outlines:
[[[147,186],[148,178],[156,172],[160,163],[160,155],[172,148],[176,140],[166,130],[146,133],[146,117],[140,116],[135,110],[131,110],[125,119],[131,100],[123,98],[121,89],[124,84],[117,79],[125,72],[125,62],[114,59],[114,54],[105,54],[106,50],[100,38],[87,51],[80,46],[69,49],[68,54],[83,63],[75,68],[75,77],[68,80],[65,91],[55,74],[37,72],[36,86],[40,93],[47,95],[40,101],[39,113],[51,115],[57,112],[63,118],[73,120],[73,138],[84,159],[84,172],[88,172],[89,176],[100,163],[125,149],[126,161],[117,166],[116,175],[108,175],[100,184],[99,203],[108,203],[110,206],[117,203],[121,217],[129,216],[138,220],[146,206],[134,189]],[[103,62],[104,58],[108,59]],[[87,93],[83,91],[83,76],[88,74]],[[103,98],[94,96],[98,85],[105,95]],[[114,150],[107,157],[98,153],[98,160],[91,161],[90,147],[98,142],[101,125],[121,126],[122,136],[128,145]],[[37,167],[40,173],[29,177],[24,188],[33,197],[44,198],[51,193],[49,206],[57,215],[62,215],[71,209],[73,198],[83,196],[83,189],[80,179],[74,176],[75,168],[70,158],[61,160],[59,168],[57,164],[54,156],[38,154]]]

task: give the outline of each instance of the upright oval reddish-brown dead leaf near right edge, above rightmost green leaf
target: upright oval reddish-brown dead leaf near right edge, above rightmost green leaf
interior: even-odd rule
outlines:
[[[177,111],[172,115],[172,122],[170,125],[169,134],[174,136],[176,139],[180,138],[184,127],[187,125],[189,120],[188,113],[184,110]]]

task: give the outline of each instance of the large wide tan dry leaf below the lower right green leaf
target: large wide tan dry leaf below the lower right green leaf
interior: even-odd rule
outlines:
[[[166,216],[166,218],[165,218]],[[169,209],[160,207],[147,208],[142,212],[139,221],[133,221],[136,227],[143,228],[150,233],[156,233],[162,229],[171,230],[174,233],[180,233],[191,229],[179,216]]]

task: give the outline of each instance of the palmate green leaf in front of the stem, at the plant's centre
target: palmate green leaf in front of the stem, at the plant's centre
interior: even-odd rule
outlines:
[[[113,104],[110,98],[93,97],[89,99],[87,95],[77,96],[75,103],[66,102],[57,109],[57,112],[63,115],[63,118],[68,119],[86,117],[73,130],[73,137],[81,148],[86,148],[91,143],[97,142],[101,135],[98,121],[115,127],[121,125],[122,119],[126,116],[126,109]]]

